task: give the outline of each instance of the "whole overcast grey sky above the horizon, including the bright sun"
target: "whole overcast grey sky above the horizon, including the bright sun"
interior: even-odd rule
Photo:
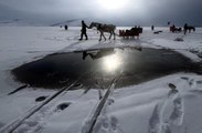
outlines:
[[[111,1],[111,2],[110,2]],[[202,0],[0,0],[0,18],[62,22],[84,19],[117,25],[202,24]]]

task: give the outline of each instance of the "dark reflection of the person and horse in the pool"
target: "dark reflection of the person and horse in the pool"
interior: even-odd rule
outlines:
[[[85,60],[87,55],[89,55],[93,60],[96,60],[96,59],[99,59],[99,58],[103,58],[106,55],[110,55],[114,53],[115,53],[114,49],[98,50],[96,52],[95,51],[93,51],[93,52],[84,51],[83,52],[83,60]]]

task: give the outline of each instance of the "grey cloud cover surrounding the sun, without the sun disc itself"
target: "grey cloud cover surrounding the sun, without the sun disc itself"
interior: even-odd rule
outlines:
[[[105,10],[97,0],[1,0],[0,3],[20,12],[43,16],[52,19],[88,18],[134,25],[135,22],[150,24],[172,21],[194,24],[202,23],[201,0],[128,0],[124,10]],[[1,11],[1,9],[0,9]],[[35,19],[39,19],[34,16]],[[40,19],[41,19],[40,18]],[[145,21],[145,22],[143,22]]]

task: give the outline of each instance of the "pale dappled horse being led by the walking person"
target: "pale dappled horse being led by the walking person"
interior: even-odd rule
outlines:
[[[113,34],[114,34],[114,40],[116,39],[115,38],[116,25],[114,25],[114,24],[103,24],[103,23],[98,23],[98,22],[92,22],[91,25],[89,25],[89,29],[92,29],[93,27],[95,27],[100,32],[99,41],[102,40],[102,37],[106,41],[104,32],[110,33],[109,39],[111,38]]]

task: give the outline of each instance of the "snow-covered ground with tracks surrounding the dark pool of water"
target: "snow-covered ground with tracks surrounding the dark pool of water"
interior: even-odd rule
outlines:
[[[117,37],[116,40],[100,42],[96,30],[88,30],[89,40],[78,41],[79,30],[0,27],[0,132],[88,132],[92,117],[100,102],[98,90],[89,90],[87,93],[84,93],[84,90],[63,91],[51,99],[59,90],[25,88],[8,95],[24,85],[15,82],[10,71],[46,54],[128,45],[170,49],[193,62],[201,62],[202,29],[183,35],[170,33],[168,28],[156,28],[162,30],[159,34],[143,28],[139,40],[123,40]],[[177,38],[183,41],[174,41]],[[40,101],[38,98],[46,100]],[[39,108],[45,101],[47,103]],[[195,73],[179,72],[138,85],[116,89],[110,92],[104,104],[93,132],[201,133],[201,101],[202,76]]]

